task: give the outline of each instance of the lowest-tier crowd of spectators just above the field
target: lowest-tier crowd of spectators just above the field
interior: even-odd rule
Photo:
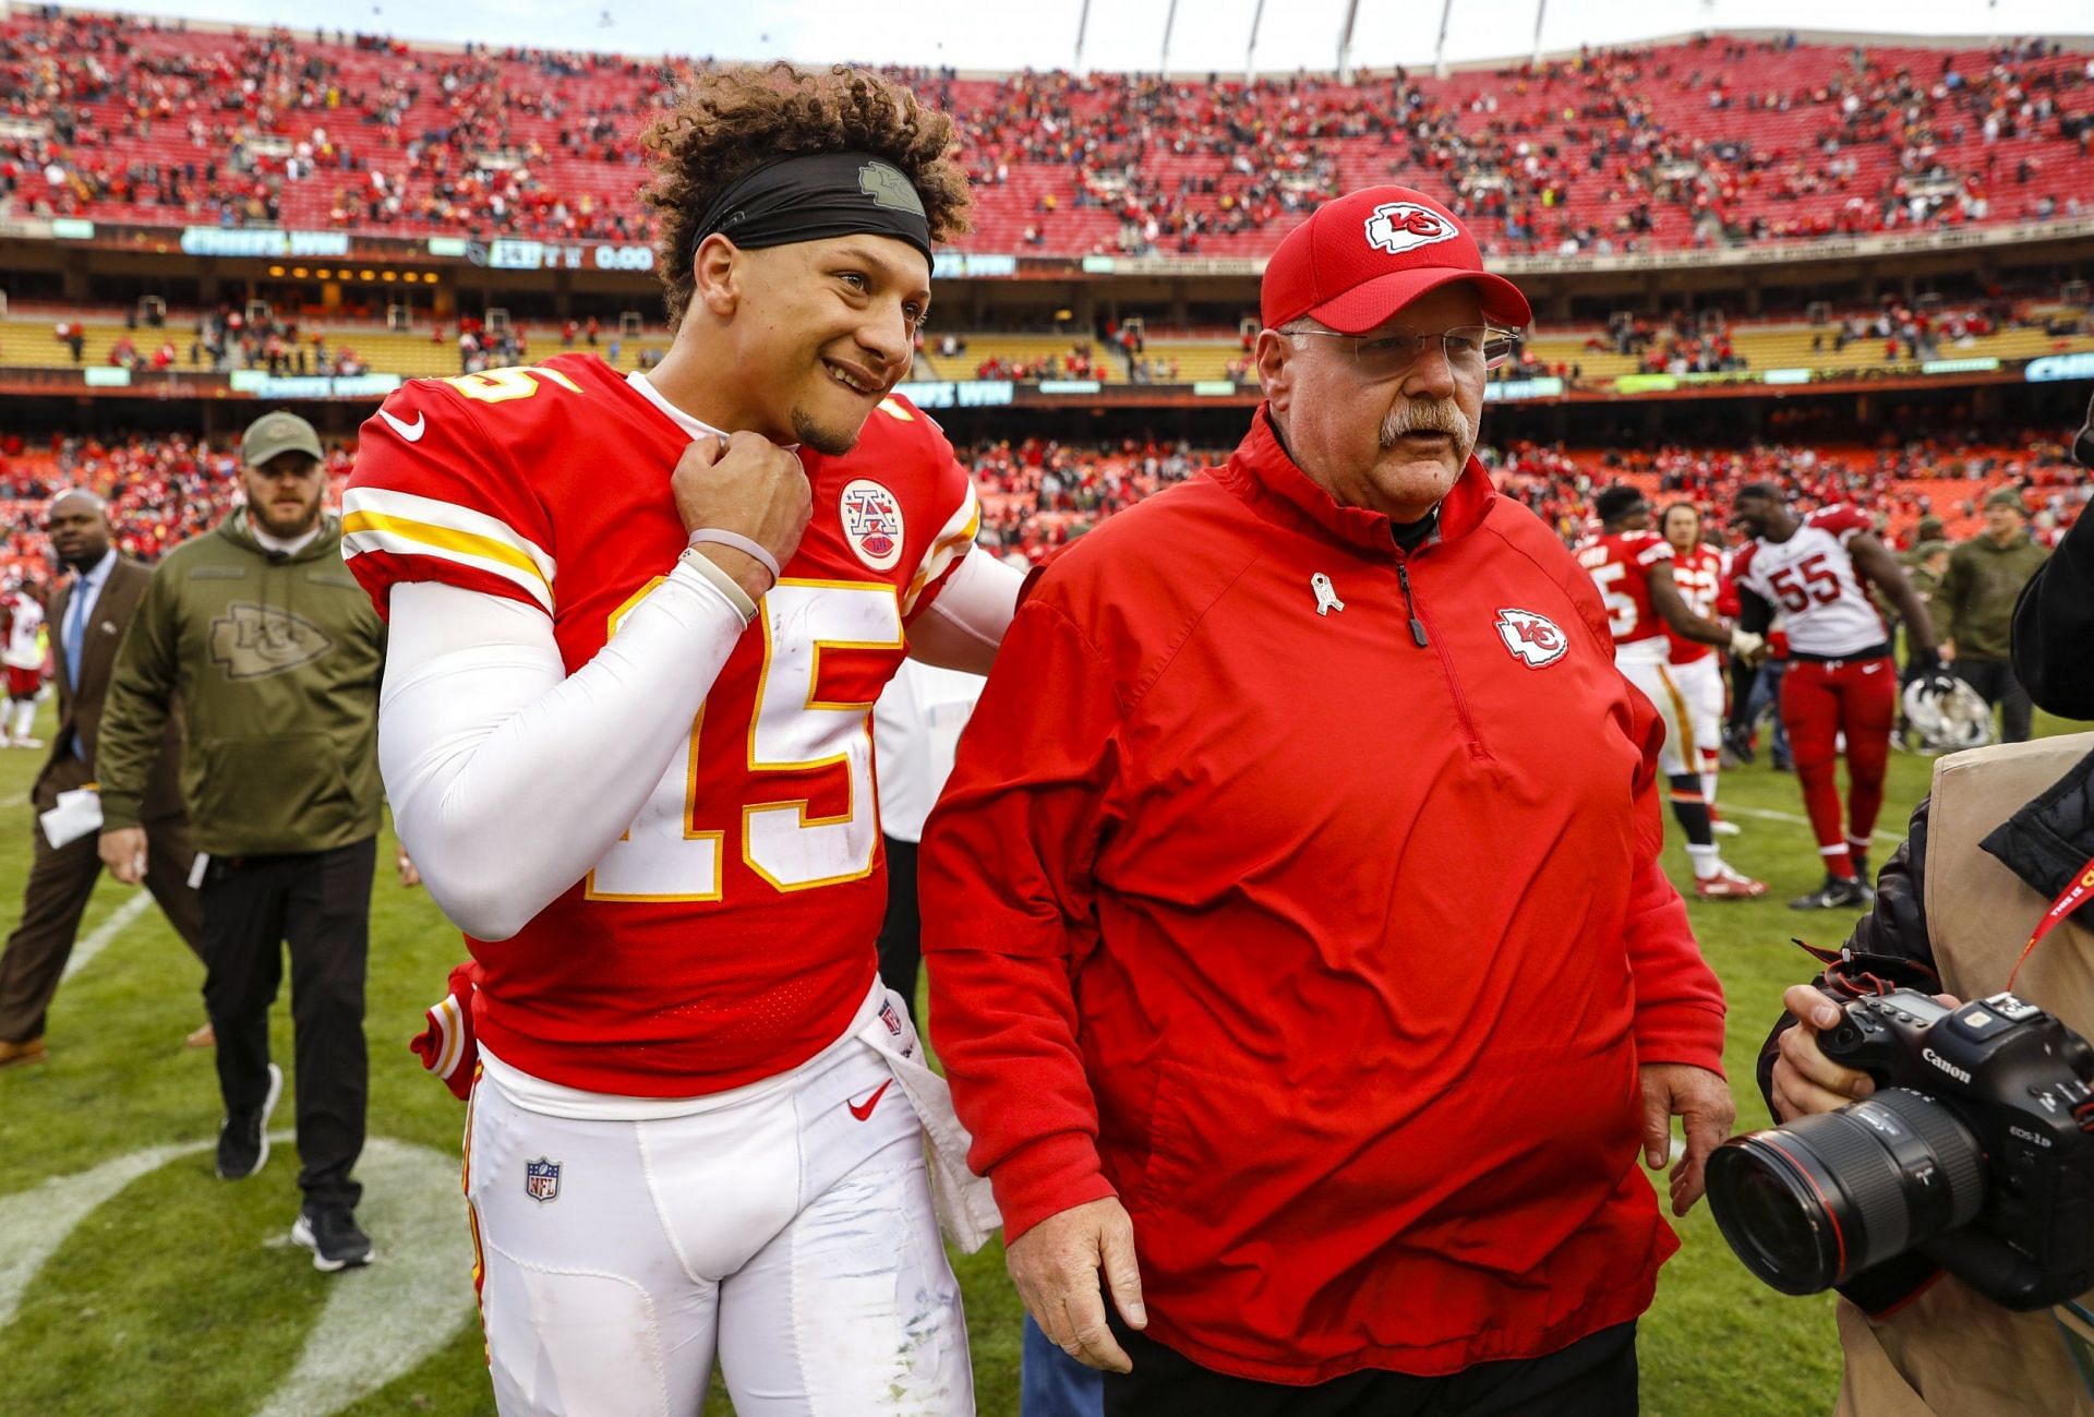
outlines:
[[[1060,442],[1028,437],[959,448],[982,496],[982,544],[1034,563],[1106,517],[1183,481],[1227,456],[1225,448],[1185,442]],[[1577,450],[1510,442],[1478,448],[1499,492],[1518,498],[1566,542],[1589,530],[1591,498],[1614,481],[1638,481],[1656,500],[1686,498],[1721,511],[1744,481],[1792,488],[1799,507],[1855,502],[1885,525],[1891,542],[1910,542],[1920,517],[1952,532],[1977,525],[1979,498],[2002,483],[2023,488],[2031,530],[2052,540],[2094,496],[2056,437],[2021,433],[1993,442],[1924,437],[1880,448],[1755,444],[1751,448]],[[354,448],[329,452],[339,490]],[[0,580],[48,576],[42,509],[65,488],[90,488],[111,502],[117,544],[144,561],[224,517],[239,463],[230,444],[211,448],[186,435],[119,442],[61,437],[27,444],[0,437]]]

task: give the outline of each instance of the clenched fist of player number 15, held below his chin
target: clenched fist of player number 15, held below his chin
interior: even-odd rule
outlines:
[[[815,511],[815,490],[800,458],[760,433],[731,433],[725,444],[699,437],[676,458],[670,492],[685,532],[712,527],[748,536],[779,565],[800,548]],[[699,542],[697,550],[733,576],[752,601],[771,590],[771,571],[756,557],[716,542]]]

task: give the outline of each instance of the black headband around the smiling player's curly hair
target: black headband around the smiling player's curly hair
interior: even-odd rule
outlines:
[[[685,266],[712,232],[745,251],[871,232],[907,241],[932,260],[923,199],[900,167],[871,153],[810,153],[745,172],[691,230]]]

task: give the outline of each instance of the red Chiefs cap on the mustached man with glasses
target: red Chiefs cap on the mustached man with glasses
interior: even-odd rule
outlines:
[[[1453,211],[1407,186],[1367,186],[1326,201],[1290,230],[1265,264],[1265,329],[1313,316],[1361,335],[1426,291],[1468,280],[1485,318],[1508,329],[1533,320],[1520,287],[1483,268],[1476,239]]]

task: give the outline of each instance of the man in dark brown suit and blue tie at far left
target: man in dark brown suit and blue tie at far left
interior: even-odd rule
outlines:
[[[71,576],[50,605],[50,647],[59,670],[59,730],[50,739],[50,760],[36,779],[31,802],[42,816],[59,793],[94,781],[94,739],[103,720],[109,666],[124,643],[138,597],[153,573],[126,561],[109,544],[109,513],[92,492],[61,492],[48,513],[50,544]],[[188,844],[188,818],[180,793],[180,722],[170,722],[144,797],[147,875],[144,885],[168,913],[191,950],[201,959],[203,910],[188,869],[197,852]],[[44,1057],[44,1009],[59,992],[65,959],[73,952],[80,915],[94,892],[103,862],[96,835],[52,848],[36,829],[36,862],[23,892],[21,925],[0,954],[0,1067]],[[209,1026],[205,1026],[207,1030]],[[209,1034],[191,1034],[197,1047]]]

